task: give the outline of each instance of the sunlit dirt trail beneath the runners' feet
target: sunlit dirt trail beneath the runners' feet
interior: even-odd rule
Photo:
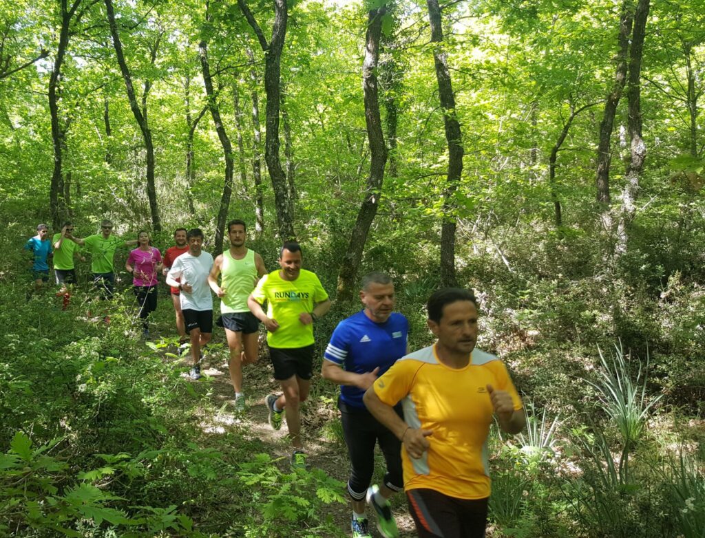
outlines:
[[[247,411],[243,415],[233,413],[235,392],[228,374],[227,348],[206,354],[202,361],[201,373],[210,383],[210,406],[199,409],[201,415],[200,427],[204,435],[209,437],[212,446],[214,435],[223,434],[228,429],[237,429],[245,439],[257,440],[264,444],[269,454],[280,462],[282,470],[288,470],[291,448],[288,442],[286,420],[283,421],[281,430],[274,431],[267,422],[267,408],[264,399],[267,394],[281,394],[281,389],[275,382],[274,370],[266,354],[266,344],[262,341],[259,346],[259,360],[243,368],[243,392],[247,396]],[[170,351],[174,351],[173,349]],[[190,365],[185,359],[169,358],[166,361],[174,363],[176,368],[183,368],[182,376],[188,378]],[[202,381],[198,381],[202,382]],[[314,373],[312,381],[312,394],[302,406],[302,432],[305,436],[305,447],[308,455],[307,462],[310,466],[324,470],[328,475],[337,480],[348,480],[348,454],[345,444],[335,439],[331,429],[326,429],[326,424],[337,419],[338,411],[334,406],[327,406],[317,397],[318,383],[321,382],[319,373]],[[213,412],[216,409],[216,412]],[[384,473],[384,459],[376,451],[376,474],[374,480],[380,480]],[[347,499],[347,493],[341,492]],[[326,506],[329,514],[346,534],[350,534],[351,507],[349,503],[331,503]],[[416,537],[414,523],[407,511],[406,501],[402,495],[397,495],[392,500],[392,510],[402,537]],[[376,530],[375,515],[368,508],[367,515],[370,522],[372,536],[381,536]]]

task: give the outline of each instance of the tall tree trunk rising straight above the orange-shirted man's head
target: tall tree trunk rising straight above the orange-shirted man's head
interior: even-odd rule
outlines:
[[[448,54],[443,49],[443,25],[438,0],[427,0],[431,23],[431,42],[434,48],[436,80],[439,85],[439,98],[443,108],[443,124],[448,141],[448,175],[443,191],[443,222],[441,223],[441,286],[453,287],[458,284],[455,277],[455,191],[462,174],[462,134],[460,122],[455,113],[455,94],[448,69]]]

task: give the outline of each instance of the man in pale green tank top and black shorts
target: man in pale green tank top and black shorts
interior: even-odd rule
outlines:
[[[247,308],[247,297],[259,277],[266,275],[262,256],[245,246],[247,227],[243,220],[228,223],[230,249],[218,256],[208,276],[213,292],[221,298],[221,319],[230,348],[228,368],[235,389],[235,411],[245,411],[243,364],[257,361],[259,321]],[[218,285],[218,275],[221,283]],[[217,322],[216,322],[217,323]],[[220,325],[220,323],[217,323]]]

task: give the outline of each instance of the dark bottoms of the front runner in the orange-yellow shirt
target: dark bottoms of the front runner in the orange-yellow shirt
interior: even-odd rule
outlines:
[[[419,538],[484,538],[487,497],[456,499],[435,489],[406,492]]]

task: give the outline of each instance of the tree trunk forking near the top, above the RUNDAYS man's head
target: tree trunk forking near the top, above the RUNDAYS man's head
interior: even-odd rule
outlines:
[[[274,188],[274,206],[279,238],[282,240],[295,237],[293,218],[290,214],[288,200],[288,184],[286,173],[281,166],[279,156],[279,104],[281,102],[281,51],[286,38],[288,21],[287,0],[274,0],[274,25],[271,42],[267,43],[262,29],[252,16],[245,0],[238,0],[238,6],[243,11],[247,23],[250,24],[262,51],[264,51],[264,92],[266,93],[266,112],[264,128],[264,161]]]

